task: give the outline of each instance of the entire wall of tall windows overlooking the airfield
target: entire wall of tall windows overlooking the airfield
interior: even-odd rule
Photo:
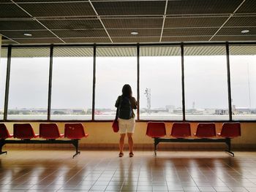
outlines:
[[[228,101],[226,46],[184,44],[184,109],[181,45],[140,45],[139,57],[137,45],[128,46],[96,46],[95,98],[91,45],[53,46],[52,71],[50,46],[13,46],[8,78],[2,47],[0,121],[113,120],[122,87],[131,85],[137,100],[138,82],[140,120],[183,120],[183,112],[185,120],[256,120],[255,45],[229,45]]]

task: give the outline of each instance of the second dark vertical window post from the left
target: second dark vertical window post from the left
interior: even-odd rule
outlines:
[[[47,120],[50,120],[51,109],[51,85],[53,80],[53,45],[50,45],[50,67],[49,67],[49,85],[48,85],[48,109]]]

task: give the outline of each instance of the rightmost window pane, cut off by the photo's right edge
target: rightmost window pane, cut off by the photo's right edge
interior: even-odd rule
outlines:
[[[230,46],[233,120],[256,119],[256,47]]]

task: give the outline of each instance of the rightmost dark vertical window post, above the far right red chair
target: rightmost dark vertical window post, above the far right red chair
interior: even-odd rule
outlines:
[[[228,93],[228,114],[230,121],[232,120],[232,98],[231,98],[231,85],[230,85],[230,49],[228,42],[226,42],[227,53],[227,93]]]

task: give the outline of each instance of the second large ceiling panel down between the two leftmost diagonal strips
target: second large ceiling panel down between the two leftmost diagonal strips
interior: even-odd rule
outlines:
[[[103,28],[99,20],[39,20],[50,29]]]

